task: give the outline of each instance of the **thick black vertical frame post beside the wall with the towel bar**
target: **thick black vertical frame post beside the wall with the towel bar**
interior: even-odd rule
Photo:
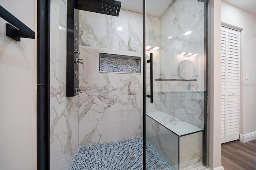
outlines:
[[[50,0],[37,0],[37,170],[50,169]]]

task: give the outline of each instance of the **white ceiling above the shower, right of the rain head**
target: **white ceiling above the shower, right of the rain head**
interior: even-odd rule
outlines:
[[[118,0],[124,10],[142,13],[142,0]],[[146,12],[148,15],[160,17],[172,4],[173,0],[146,0]],[[157,9],[157,10],[156,10]]]

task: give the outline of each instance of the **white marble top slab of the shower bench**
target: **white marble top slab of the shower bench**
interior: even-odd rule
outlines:
[[[146,113],[149,117],[178,135],[179,137],[188,135],[191,133],[200,132],[203,129],[200,127],[196,127],[186,121],[182,121],[172,115],[164,113],[163,111],[154,111],[150,113]]]

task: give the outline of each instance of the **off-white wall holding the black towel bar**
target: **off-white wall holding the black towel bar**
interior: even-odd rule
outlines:
[[[0,5],[36,31],[35,0]],[[5,35],[0,18],[0,170],[36,169],[36,39]]]

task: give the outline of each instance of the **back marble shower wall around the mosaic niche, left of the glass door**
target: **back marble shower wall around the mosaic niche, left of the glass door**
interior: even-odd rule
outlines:
[[[142,72],[100,73],[99,53],[142,57],[142,14],[79,12],[79,145],[142,136]],[[122,27],[122,31],[116,28]],[[142,59],[141,59],[142,61]],[[142,63],[141,63],[142,68]]]

